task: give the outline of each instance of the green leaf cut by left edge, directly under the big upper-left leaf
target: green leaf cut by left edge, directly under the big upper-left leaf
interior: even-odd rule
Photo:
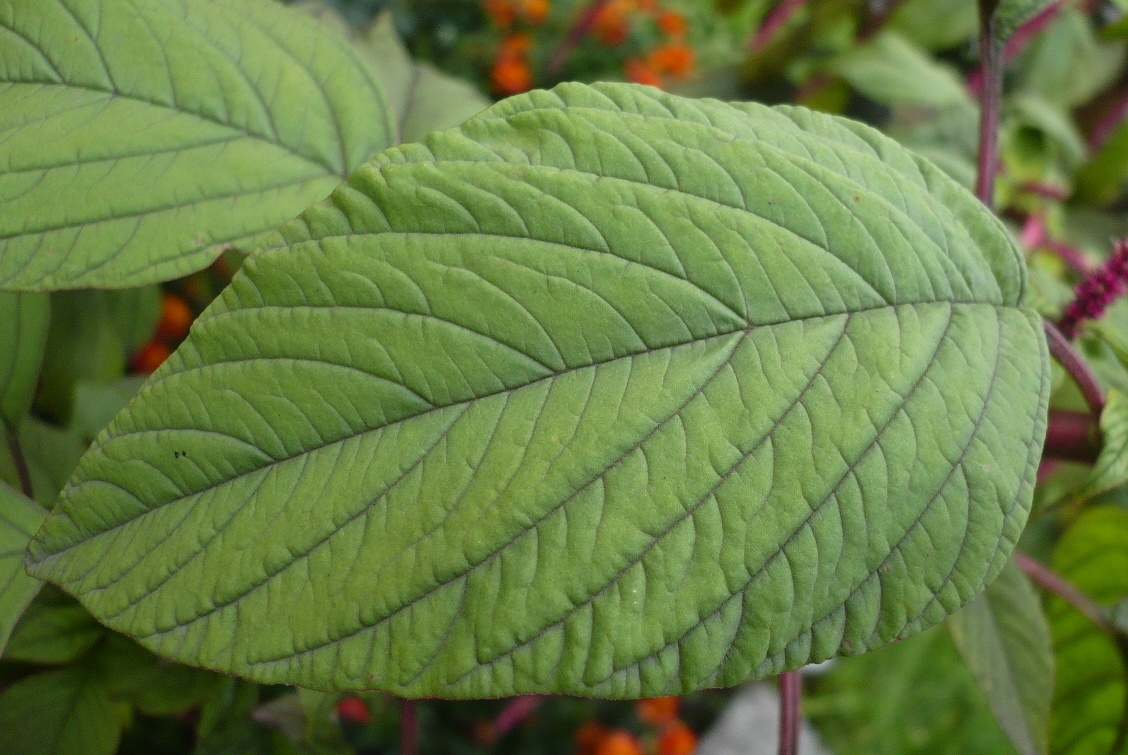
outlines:
[[[0,434],[17,429],[32,406],[50,315],[43,295],[0,293]]]

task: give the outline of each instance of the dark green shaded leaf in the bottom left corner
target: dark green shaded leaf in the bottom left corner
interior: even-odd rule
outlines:
[[[114,703],[89,669],[36,674],[0,695],[6,755],[113,755],[121,737]]]

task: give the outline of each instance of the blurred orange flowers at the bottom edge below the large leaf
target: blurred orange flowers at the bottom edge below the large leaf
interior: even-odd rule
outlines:
[[[678,706],[677,697],[640,700],[636,712],[649,729],[642,738],[626,729],[585,723],[575,735],[576,755],[690,755],[697,735],[678,718]]]

